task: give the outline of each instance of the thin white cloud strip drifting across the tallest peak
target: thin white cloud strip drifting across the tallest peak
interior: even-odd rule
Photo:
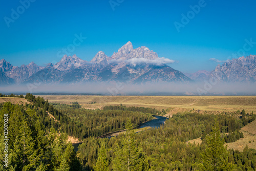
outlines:
[[[153,64],[153,65],[157,65],[160,66],[162,64],[166,64],[166,63],[174,63],[175,60],[172,59],[168,59],[165,57],[160,57],[160,58],[156,58],[156,59],[146,59],[146,58],[131,58],[131,59],[113,59],[110,62],[128,62],[131,63],[133,66],[139,65],[141,63],[147,63],[147,64]]]

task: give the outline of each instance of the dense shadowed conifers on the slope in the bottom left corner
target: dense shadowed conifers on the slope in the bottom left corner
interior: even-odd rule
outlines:
[[[0,117],[8,114],[8,167],[4,166],[4,136],[0,135],[0,170],[81,170],[81,164],[68,136],[51,127],[46,131],[35,110],[6,102]],[[0,129],[4,124],[1,122]],[[71,169],[72,168],[72,169]]]

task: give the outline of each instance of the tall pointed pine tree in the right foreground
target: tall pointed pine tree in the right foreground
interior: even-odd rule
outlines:
[[[206,148],[201,157],[204,170],[227,170],[228,152],[224,147],[224,140],[221,139],[217,119],[212,126],[212,132],[206,137]]]

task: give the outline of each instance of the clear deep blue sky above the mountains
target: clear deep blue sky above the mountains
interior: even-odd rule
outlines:
[[[111,56],[131,41],[134,48],[146,46],[159,57],[175,60],[170,66],[182,72],[210,71],[218,64],[210,58],[225,61],[240,54],[256,55],[256,44],[247,43],[256,42],[255,1],[111,2],[116,6],[109,0],[31,0],[24,8],[20,1],[2,1],[0,59],[14,66],[31,61],[44,66],[59,61],[62,48],[80,34],[86,39],[70,54],[84,60],[100,50]],[[191,6],[199,6],[200,11],[191,12]],[[189,22],[182,23],[182,14]],[[179,32],[175,22],[183,25]]]

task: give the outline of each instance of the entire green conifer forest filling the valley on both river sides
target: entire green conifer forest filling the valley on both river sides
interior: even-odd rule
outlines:
[[[241,113],[205,115],[191,111],[173,115],[163,126],[135,134],[132,127],[151,119],[154,110],[128,109],[122,105],[87,110],[66,104],[50,104],[48,100],[31,94],[25,98],[31,103],[0,104],[1,117],[5,113],[10,114],[8,170],[256,169],[255,149],[246,146],[243,152],[239,152],[227,150],[224,146],[225,142],[242,138],[239,130],[255,120],[253,112],[243,110]],[[237,114],[241,117],[234,117]],[[110,139],[96,138],[110,131],[110,125],[112,130],[126,127],[127,132]],[[3,130],[2,122],[0,129]],[[91,130],[90,134],[85,130]],[[67,143],[67,136],[79,137],[80,134],[81,137],[87,136],[76,153],[72,144]],[[200,137],[201,144],[187,142]],[[2,145],[1,161],[3,149]],[[2,170],[5,169],[3,164],[1,162]]]

